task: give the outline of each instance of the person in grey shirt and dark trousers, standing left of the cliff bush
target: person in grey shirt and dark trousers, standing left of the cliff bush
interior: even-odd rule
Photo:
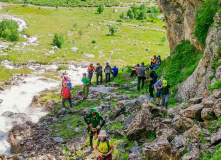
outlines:
[[[141,88],[144,87],[144,81],[146,79],[147,75],[147,69],[144,67],[144,63],[141,63],[141,66],[137,69],[137,75],[138,75],[138,83],[137,83],[137,90],[140,91],[140,81],[142,81]]]

